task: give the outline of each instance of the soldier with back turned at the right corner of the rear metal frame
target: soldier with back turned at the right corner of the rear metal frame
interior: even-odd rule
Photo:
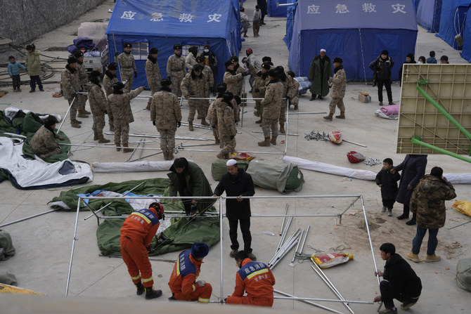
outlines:
[[[283,96],[283,84],[278,81],[278,76],[278,71],[274,69],[269,71],[269,84],[266,85],[265,97],[262,100],[262,106],[264,107],[262,130],[264,131],[265,140],[259,142],[259,146],[270,146],[270,143],[276,145],[280,105],[283,104],[281,99]]]

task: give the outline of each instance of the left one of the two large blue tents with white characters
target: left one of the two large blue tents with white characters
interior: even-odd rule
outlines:
[[[174,44],[211,46],[218,59],[217,81],[222,81],[224,62],[238,55],[240,14],[238,0],[120,0],[106,30],[110,60],[115,51],[122,53],[124,42],[133,44],[138,77],[133,89],[147,86],[145,63],[150,48],[159,49],[157,63],[162,78],[167,77],[167,59],[174,53]],[[116,46],[116,48],[115,48]]]

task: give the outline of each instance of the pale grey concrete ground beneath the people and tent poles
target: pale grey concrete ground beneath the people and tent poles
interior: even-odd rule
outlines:
[[[252,12],[256,1],[245,2],[247,13]],[[78,20],[54,30],[35,41],[37,48],[44,51],[51,46],[67,46],[75,38],[75,32],[80,22],[89,22],[109,18],[108,8],[112,8],[112,1],[107,0],[103,5],[86,13]],[[249,32],[249,34],[251,34]],[[245,54],[246,48],[252,48],[254,53],[262,58],[270,55],[273,63],[283,65],[287,68],[288,50],[282,41],[285,34],[285,21],[281,18],[266,18],[266,25],[261,27],[260,37],[254,39],[251,35],[243,43],[240,55]],[[441,54],[449,55],[451,63],[466,63],[459,57],[458,51],[448,46],[444,41],[434,37],[434,34],[425,32],[419,27],[418,42],[416,46],[416,59],[419,55],[428,55],[430,50],[437,51],[437,58]],[[64,51],[47,51],[46,55],[66,58]],[[332,55],[330,57],[333,57]],[[51,60],[43,58],[44,61]],[[401,60],[396,60],[395,70],[399,71]],[[57,68],[57,72],[49,80],[60,80],[60,69],[65,63],[51,63]],[[347,74],[348,75],[348,74]],[[64,115],[67,110],[67,103],[63,98],[53,98],[51,94],[58,84],[46,84],[44,93],[27,93],[28,86],[24,86],[22,93],[8,93],[1,98],[1,110],[9,106],[20,109],[34,110],[39,113],[56,113]],[[247,84],[248,88],[248,84]],[[7,89],[7,91],[11,91]],[[359,103],[359,92],[368,92],[372,95],[372,103]],[[392,87],[394,100],[399,101],[399,84],[394,83]],[[149,91],[144,92],[148,95]],[[249,94],[250,95],[250,94]],[[325,112],[328,110],[330,97],[324,100],[309,102],[309,93],[299,100],[299,112]],[[288,155],[310,159],[317,162],[326,162],[337,166],[345,166],[354,169],[364,169],[378,172],[381,165],[367,166],[361,164],[350,164],[346,154],[349,150],[361,152],[366,157],[384,159],[391,157],[395,164],[399,164],[404,155],[395,153],[396,143],[396,120],[387,120],[376,117],[374,112],[378,110],[376,88],[370,84],[352,83],[347,86],[347,95],[344,98],[347,119],[334,119],[333,122],[326,122],[323,115],[290,115],[288,131],[297,133],[299,136],[288,137]],[[131,124],[133,133],[157,133],[155,127],[149,119],[149,112],[144,110],[146,100],[133,100],[131,102],[134,119]],[[87,108],[89,106],[87,105]],[[283,152],[284,146],[278,143],[276,147],[259,148],[257,141],[262,140],[261,133],[252,133],[261,128],[254,121],[257,117],[252,115],[253,105],[244,108],[247,111],[244,116],[243,127],[238,126],[236,140],[237,149],[240,151],[263,151],[263,152]],[[290,110],[290,112],[295,112]],[[188,110],[183,109],[183,117],[186,117]],[[92,120],[82,119],[81,129],[72,129],[68,120],[63,126],[63,131],[70,137],[72,143],[94,144],[93,132],[91,131]],[[183,118],[185,121],[185,118]],[[304,133],[313,129],[320,131],[339,130],[344,139],[367,145],[363,148],[349,143],[333,145],[331,143],[306,140]],[[108,126],[105,126],[108,131]],[[212,133],[207,130],[195,129],[190,132],[185,126],[181,126],[177,131],[177,136],[198,136],[202,138],[212,138]],[[112,136],[105,136],[112,139]],[[278,142],[283,138],[278,138]],[[131,138],[138,141],[140,138]],[[198,144],[202,142],[191,140],[178,140],[177,143]],[[148,143],[146,147],[158,148],[157,142]],[[211,147],[211,146],[210,146]],[[180,151],[177,157],[186,157],[197,162],[207,174],[209,183],[213,189],[217,182],[212,180],[210,175],[211,162],[215,159],[217,152],[190,152]],[[276,161],[280,155],[253,154],[257,159]],[[89,162],[125,162],[129,154],[116,152],[112,148],[72,148],[71,159]],[[144,160],[162,160],[161,155],[149,157]],[[452,157],[444,155],[430,155],[428,157],[427,173],[432,166],[441,166],[445,172],[466,173],[469,172],[469,164]],[[401,204],[396,204],[393,210],[393,217],[388,217],[380,212],[382,207],[380,189],[373,181],[348,180],[342,176],[334,176],[314,171],[302,171],[304,174],[304,185],[300,192],[292,192],[289,195],[362,195],[366,214],[368,215],[368,225],[373,241],[373,253],[382,269],[384,261],[379,254],[380,244],[392,242],[396,245],[396,250],[404,256],[411,249],[411,240],[415,235],[415,228],[405,224],[405,221],[398,221],[396,216],[401,214]],[[93,182],[88,184],[103,184],[108,182],[121,182],[127,180],[138,180],[144,178],[166,178],[167,172],[136,172],[124,174],[94,174]],[[72,186],[70,188],[76,188]],[[457,200],[469,200],[469,185],[456,185]],[[49,209],[48,202],[58,196],[61,190],[69,188],[54,188],[48,190],[17,190],[11,183],[1,183],[0,200],[0,225],[15,221],[16,219],[37,214]],[[263,190],[256,188],[257,196],[274,196],[280,193],[273,190]],[[299,198],[299,199],[255,199],[252,201],[252,213],[256,214],[283,214],[285,204],[288,203],[290,214],[332,214],[340,213],[346,209],[352,197],[347,198]],[[446,202],[447,218],[446,227],[458,225],[469,218],[458,214],[451,209],[453,201]],[[342,219],[342,225],[337,225],[338,221],[333,218],[294,218],[290,226],[289,233],[293,233],[295,228],[306,228],[311,225],[307,238],[304,253],[314,254],[317,251],[333,252],[333,249],[340,249],[344,253],[354,255],[354,260],[343,266],[337,266],[325,270],[335,287],[340,291],[345,299],[359,301],[373,301],[379,293],[378,281],[373,275],[375,266],[373,256],[370,251],[368,234],[366,232],[364,218],[362,214],[361,202],[357,201],[354,207],[347,211]],[[70,297],[85,301],[95,302],[97,300],[108,299],[108,303],[129,303],[137,304],[140,297],[135,295],[134,286],[129,280],[127,268],[122,259],[106,258],[99,256],[96,245],[96,223],[93,219],[84,221],[83,218],[89,213],[79,214],[79,225],[77,229],[77,242],[73,259],[72,275],[70,277]],[[268,262],[273,256],[274,250],[280,239],[281,218],[252,218],[252,248],[259,261]],[[70,262],[70,251],[72,246],[72,236],[74,233],[75,214],[70,212],[54,212],[45,216],[30,219],[21,223],[15,223],[4,227],[13,238],[16,254],[8,261],[0,262],[0,273],[14,273],[18,280],[18,286],[43,292],[49,296],[65,295],[67,271]],[[411,263],[411,266],[422,280],[422,296],[420,301],[408,312],[410,313],[465,313],[465,308],[469,302],[469,294],[456,285],[456,264],[463,257],[470,256],[469,240],[470,225],[463,225],[458,228],[447,230],[441,228],[439,231],[438,251],[441,261],[438,263]],[[264,233],[269,231],[275,236]],[[237,267],[230,259],[228,239],[228,223],[224,220],[223,230],[223,289],[224,297],[233,292],[235,283],[235,273]],[[426,242],[424,243],[426,245]],[[210,282],[213,286],[212,300],[218,300],[221,295],[220,279],[220,244],[215,244],[209,251],[202,266],[201,280]],[[149,303],[167,303],[167,297],[171,295],[167,282],[172,272],[173,263],[179,252],[165,254],[164,256],[154,256],[152,259],[155,288],[162,289],[163,296]],[[420,253],[421,258],[425,258],[425,249]],[[321,281],[320,277],[311,269],[311,262],[296,263],[290,266],[292,252],[273,270],[276,277],[275,289],[295,294],[296,296],[313,297],[321,299],[336,299],[330,289]],[[4,297],[2,296],[2,299]],[[59,298],[60,299],[60,298]],[[3,299],[4,300],[4,299]],[[70,300],[70,299],[69,299]],[[3,303],[3,301],[2,301]],[[74,302],[75,303],[75,302]],[[142,303],[142,302],[141,302]],[[317,302],[323,306],[333,308],[342,313],[348,313],[342,303]],[[11,311],[8,313],[20,313],[15,310],[20,308],[22,302],[9,302]],[[177,310],[183,306],[176,304]],[[210,304],[209,307],[221,306]],[[356,313],[375,313],[378,304],[361,305],[350,304]],[[399,303],[396,302],[399,307]],[[276,300],[273,308],[283,311],[311,310],[313,313],[327,313],[321,308],[315,308],[299,301]],[[60,310],[59,310],[60,311]],[[253,311],[251,309],[251,311]],[[399,312],[402,312],[399,310]],[[3,313],[3,309],[2,309]],[[27,313],[27,311],[23,312]]]

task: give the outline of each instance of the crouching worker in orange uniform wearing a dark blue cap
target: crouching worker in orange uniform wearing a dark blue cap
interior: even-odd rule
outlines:
[[[207,256],[209,247],[203,242],[195,242],[190,250],[182,251],[176,260],[169,287],[170,300],[197,301],[208,303],[211,297],[211,284],[198,280],[202,260]]]

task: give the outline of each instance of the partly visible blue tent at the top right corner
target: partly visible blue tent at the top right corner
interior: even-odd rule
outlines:
[[[471,0],[448,0],[441,7],[440,28],[438,37],[455,49],[461,49],[455,41],[455,36],[465,32],[465,16]]]

